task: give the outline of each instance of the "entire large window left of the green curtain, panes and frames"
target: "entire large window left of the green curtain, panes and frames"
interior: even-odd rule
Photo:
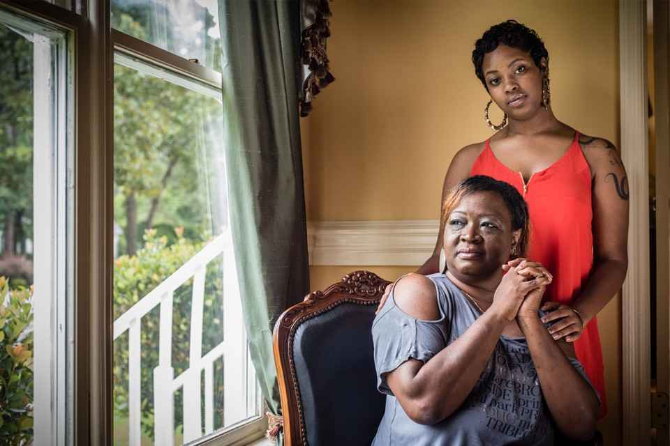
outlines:
[[[216,0],[0,2],[0,306],[27,322],[14,332],[19,318],[0,309],[0,355],[25,372],[23,417],[0,433],[35,445],[262,436],[218,134],[217,16]]]

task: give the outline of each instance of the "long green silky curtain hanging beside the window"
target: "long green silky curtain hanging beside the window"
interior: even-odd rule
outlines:
[[[251,359],[280,413],[272,328],[308,293],[299,0],[219,1],[230,225]]]

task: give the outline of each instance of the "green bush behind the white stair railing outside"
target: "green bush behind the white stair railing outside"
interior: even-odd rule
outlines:
[[[121,256],[114,264],[114,320],[142,299],[163,280],[191,259],[205,245],[184,237],[181,228],[174,230],[177,238],[170,244],[155,229],[144,233],[144,246],[135,256]],[[204,293],[202,353],[223,341],[223,263],[221,259],[207,266]],[[172,302],[172,367],[175,378],[188,369],[190,347],[191,293],[193,279],[174,293]],[[142,431],[154,436],[154,368],[158,366],[158,334],[160,305],[141,322]],[[128,417],[128,334],[114,341],[114,410],[119,417]],[[222,378],[222,377],[221,377]],[[215,405],[223,405],[223,380],[214,383]],[[177,392],[174,401],[176,426],[182,419],[182,405]],[[217,414],[217,418],[219,415]],[[215,419],[215,424],[222,420]]]

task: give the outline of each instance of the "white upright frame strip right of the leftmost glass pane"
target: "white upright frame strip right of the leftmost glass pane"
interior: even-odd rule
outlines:
[[[34,438],[66,445],[72,435],[73,387],[73,32],[25,14],[0,10],[8,26],[33,34],[34,209],[50,222],[34,225],[33,266],[37,292],[34,323]],[[35,220],[34,220],[35,221]],[[55,409],[52,409],[55,408]]]

